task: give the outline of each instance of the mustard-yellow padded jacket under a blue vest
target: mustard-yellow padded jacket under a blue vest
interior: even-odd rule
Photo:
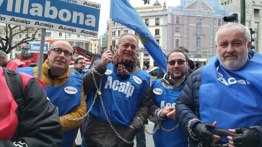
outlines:
[[[51,78],[49,78],[48,76],[48,70],[49,70],[49,66],[48,66],[48,59],[46,59],[46,61],[43,63],[43,69],[42,69],[42,81],[45,85],[48,85],[48,86],[61,86],[63,85],[64,83],[66,83],[66,81],[68,80],[69,78],[69,75],[70,75],[70,68],[68,67],[66,69],[66,71],[60,75],[60,77],[52,80]],[[35,67],[33,69],[33,73],[35,75],[35,77],[37,77],[37,67]],[[53,85],[52,85],[53,83]],[[86,112],[86,103],[85,103],[85,95],[84,95],[84,88],[82,86],[82,89],[81,89],[81,103],[78,107],[72,109],[72,111],[64,116],[66,117],[69,117],[69,118],[80,118],[82,116],[85,115],[85,112]],[[81,119],[79,121],[70,121],[66,118],[59,118],[60,119],[60,122],[61,122],[61,125],[63,127],[63,131],[66,132],[66,131],[69,131],[71,129],[74,129],[78,126],[80,126],[81,124],[83,124],[84,122],[84,119]]]

